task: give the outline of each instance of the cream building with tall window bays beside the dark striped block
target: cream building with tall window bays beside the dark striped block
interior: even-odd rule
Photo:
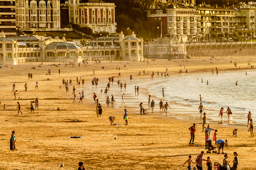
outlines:
[[[26,29],[59,29],[59,0],[16,0],[16,26]]]

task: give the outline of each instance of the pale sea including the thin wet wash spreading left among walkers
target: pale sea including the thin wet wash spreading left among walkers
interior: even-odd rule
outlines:
[[[159,114],[158,103],[160,99],[163,102],[168,102],[170,111],[168,116],[175,116],[177,118],[188,120],[200,120],[199,115],[199,95],[203,97],[202,104],[207,113],[207,122],[220,122],[219,110],[224,107],[226,110],[229,106],[232,111],[231,124],[247,124],[247,113],[251,111],[252,118],[256,113],[255,103],[256,98],[256,72],[253,70],[235,71],[219,73],[219,75],[212,75],[211,73],[200,73],[190,75],[170,75],[169,78],[161,76],[136,77],[130,81],[129,77],[114,78],[113,85],[110,85],[108,95],[111,99],[111,94],[115,97],[115,107],[132,108],[139,113],[139,103],[143,102],[143,107],[148,109],[148,95],[155,101],[155,114]],[[124,84],[126,82],[127,88],[121,90],[118,87],[117,81]],[[197,80],[198,79],[198,80]],[[201,82],[203,79],[203,83]],[[206,82],[209,82],[209,85]],[[235,82],[238,81],[238,86]],[[99,80],[98,88],[92,88],[91,84],[84,87],[76,88],[77,92],[84,90],[84,97],[93,100],[93,92],[96,92],[100,103],[106,108],[106,97],[104,89],[107,87],[108,80]],[[134,86],[139,86],[139,95],[135,95]],[[162,96],[162,88],[164,88],[164,97]],[[101,93],[103,89],[103,93]],[[125,93],[125,104],[121,104],[121,96]],[[92,101],[94,102],[94,101]],[[110,104],[111,106],[111,104]],[[149,111],[150,112],[150,111]],[[176,114],[177,112],[177,114]],[[179,112],[179,114],[178,114]],[[165,113],[160,113],[165,115]],[[224,123],[227,122],[227,114],[223,115]]]

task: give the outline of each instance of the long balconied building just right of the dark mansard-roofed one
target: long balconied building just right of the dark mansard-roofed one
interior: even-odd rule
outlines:
[[[225,7],[210,7],[206,4],[200,4],[196,7],[201,15],[201,35],[209,38],[211,33],[230,35],[235,31],[234,10]]]

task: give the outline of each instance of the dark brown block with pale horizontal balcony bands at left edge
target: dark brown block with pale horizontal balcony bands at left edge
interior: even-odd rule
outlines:
[[[7,37],[16,35],[15,1],[0,1],[0,32]]]

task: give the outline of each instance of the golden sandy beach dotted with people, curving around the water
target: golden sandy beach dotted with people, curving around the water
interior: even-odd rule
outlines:
[[[205,143],[205,134],[202,131],[202,121],[198,117],[189,116],[190,113],[198,114],[198,109],[170,104],[168,115],[159,114],[159,107],[150,114],[139,114],[139,103],[129,105],[129,102],[137,98],[134,94],[120,91],[116,96],[116,106],[107,107],[104,93],[100,93],[100,87],[92,89],[91,81],[94,77],[99,78],[99,86],[106,87],[110,76],[118,76],[120,67],[120,80],[127,83],[129,88],[130,74],[133,80],[145,79],[150,81],[152,71],[164,72],[168,69],[169,77],[178,76],[178,70],[185,73],[189,69],[190,74],[209,73],[218,68],[222,72],[236,72],[251,70],[247,63],[256,66],[255,56],[216,57],[194,57],[185,60],[156,60],[147,62],[134,61],[101,61],[101,64],[90,62],[87,67],[78,64],[75,67],[53,66],[53,63],[43,63],[42,68],[37,66],[41,63],[20,64],[17,66],[8,65],[0,69],[1,77],[1,104],[0,104],[0,169],[55,169],[59,168],[62,162],[64,167],[60,169],[77,169],[78,162],[84,162],[87,169],[187,169],[183,163],[192,155],[195,161],[205,146],[189,146],[190,131],[188,128],[197,123],[196,144]],[[230,60],[232,63],[230,64]],[[237,63],[235,68],[234,62]],[[54,63],[59,64],[59,63]],[[102,69],[104,66],[105,69]],[[125,67],[124,67],[125,66]],[[32,69],[35,67],[36,69]],[[51,69],[51,75],[47,75]],[[58,70],[60,69],[60,76]],[[93,75],[95,69],[95,75]],[[145,70],[149,75],[138,75]],[[33,79],[28,79],[28,73],[33,73]],[[78,88],[76,77],[86,80],[84,87]],[[50,79],[50,80],[47,80]],[[72,79],[69,92],[65,92],[62,86],[62,79]],[[132,80],[132,81],[133,81]],[[39,89],[35,89],[38,82]],[[14,100],[12,85],[16,83],[17,100]],[[28,84],[28,91],[25,92],[24,85]],[[104,83],[104,85],[103,85]],[[61,89],[59,88],[61,85]],[[75,86],[77,100],[72,103],[72,87]],[[111,85],[111,90],[118,88],[117,78]],[[78,93],[84,90],[86,96],[83,103],[79,102]],[[104,89],[103,89],[104,90]],[[93,92],[96,92],[104,107],[102,117],[97,117],[96,105],[93,101]],[[121,105],[121,94],[126,93],[125,104]],[[140,91],[140,95],[147,96],[147,91]],[[139,96],[140,96],[139,95]],[[20,97],[20,100],[18,100]],[[30,114],[30,101],[39,98],[39,110]],[[22,98],[22,100],[21,100]],[[21,104],[23,115],[17,116],[17,102]],[[147,98],[143,101],[146,106]],[[159,103],[156,100],[156,105]],[[4,110],[4,104],[7,110]],[[57,107],[60,108],[57,111]],[[128,126],[125,126],[123,119],[124,108],[128,110]],[[173,109],[172,109],[173,108]],[[179,113],[186,111],[189,120],[177,119]],[[110,125],[109,116],[115,116],[115,123],[120,126]],[[226,116],[226,115],[224,115]],[[254,117],[252,113],[252,118]],[[246,121],[246,117],[244,120]],[[207,124],[206,124],[207,125]],[[218,123],[211,123],[213,129],[218,129],[218,139],[228,139],[229,145],[224,151],[229,154],[228,160],[232,165],[233,152],[239,154],[238,169],[255,169],[256,144],[255,137],[251,138],[246,126],[232,126]],[[234,128],[238,129],[238,136],[232,137]],[[16,133],[17,151],[10,150],[10,137],[12,131]],[[212,132],[213,134],[213,132]],[[211,135],[212,135],[211,134]],[[70,136],[81,136],[82,138],[68,138]],[[117,139],[114,139],[117,136]],[[154,142],[154,144],[152,144]],[[144,145],[143,145],[144,144]],[[223,154],[205,153],[204,158],[211,157],[212,162],[222,164]],[[195,164],[192,164],[194,167]],[[206,169],[206,161],[203,162]]]

